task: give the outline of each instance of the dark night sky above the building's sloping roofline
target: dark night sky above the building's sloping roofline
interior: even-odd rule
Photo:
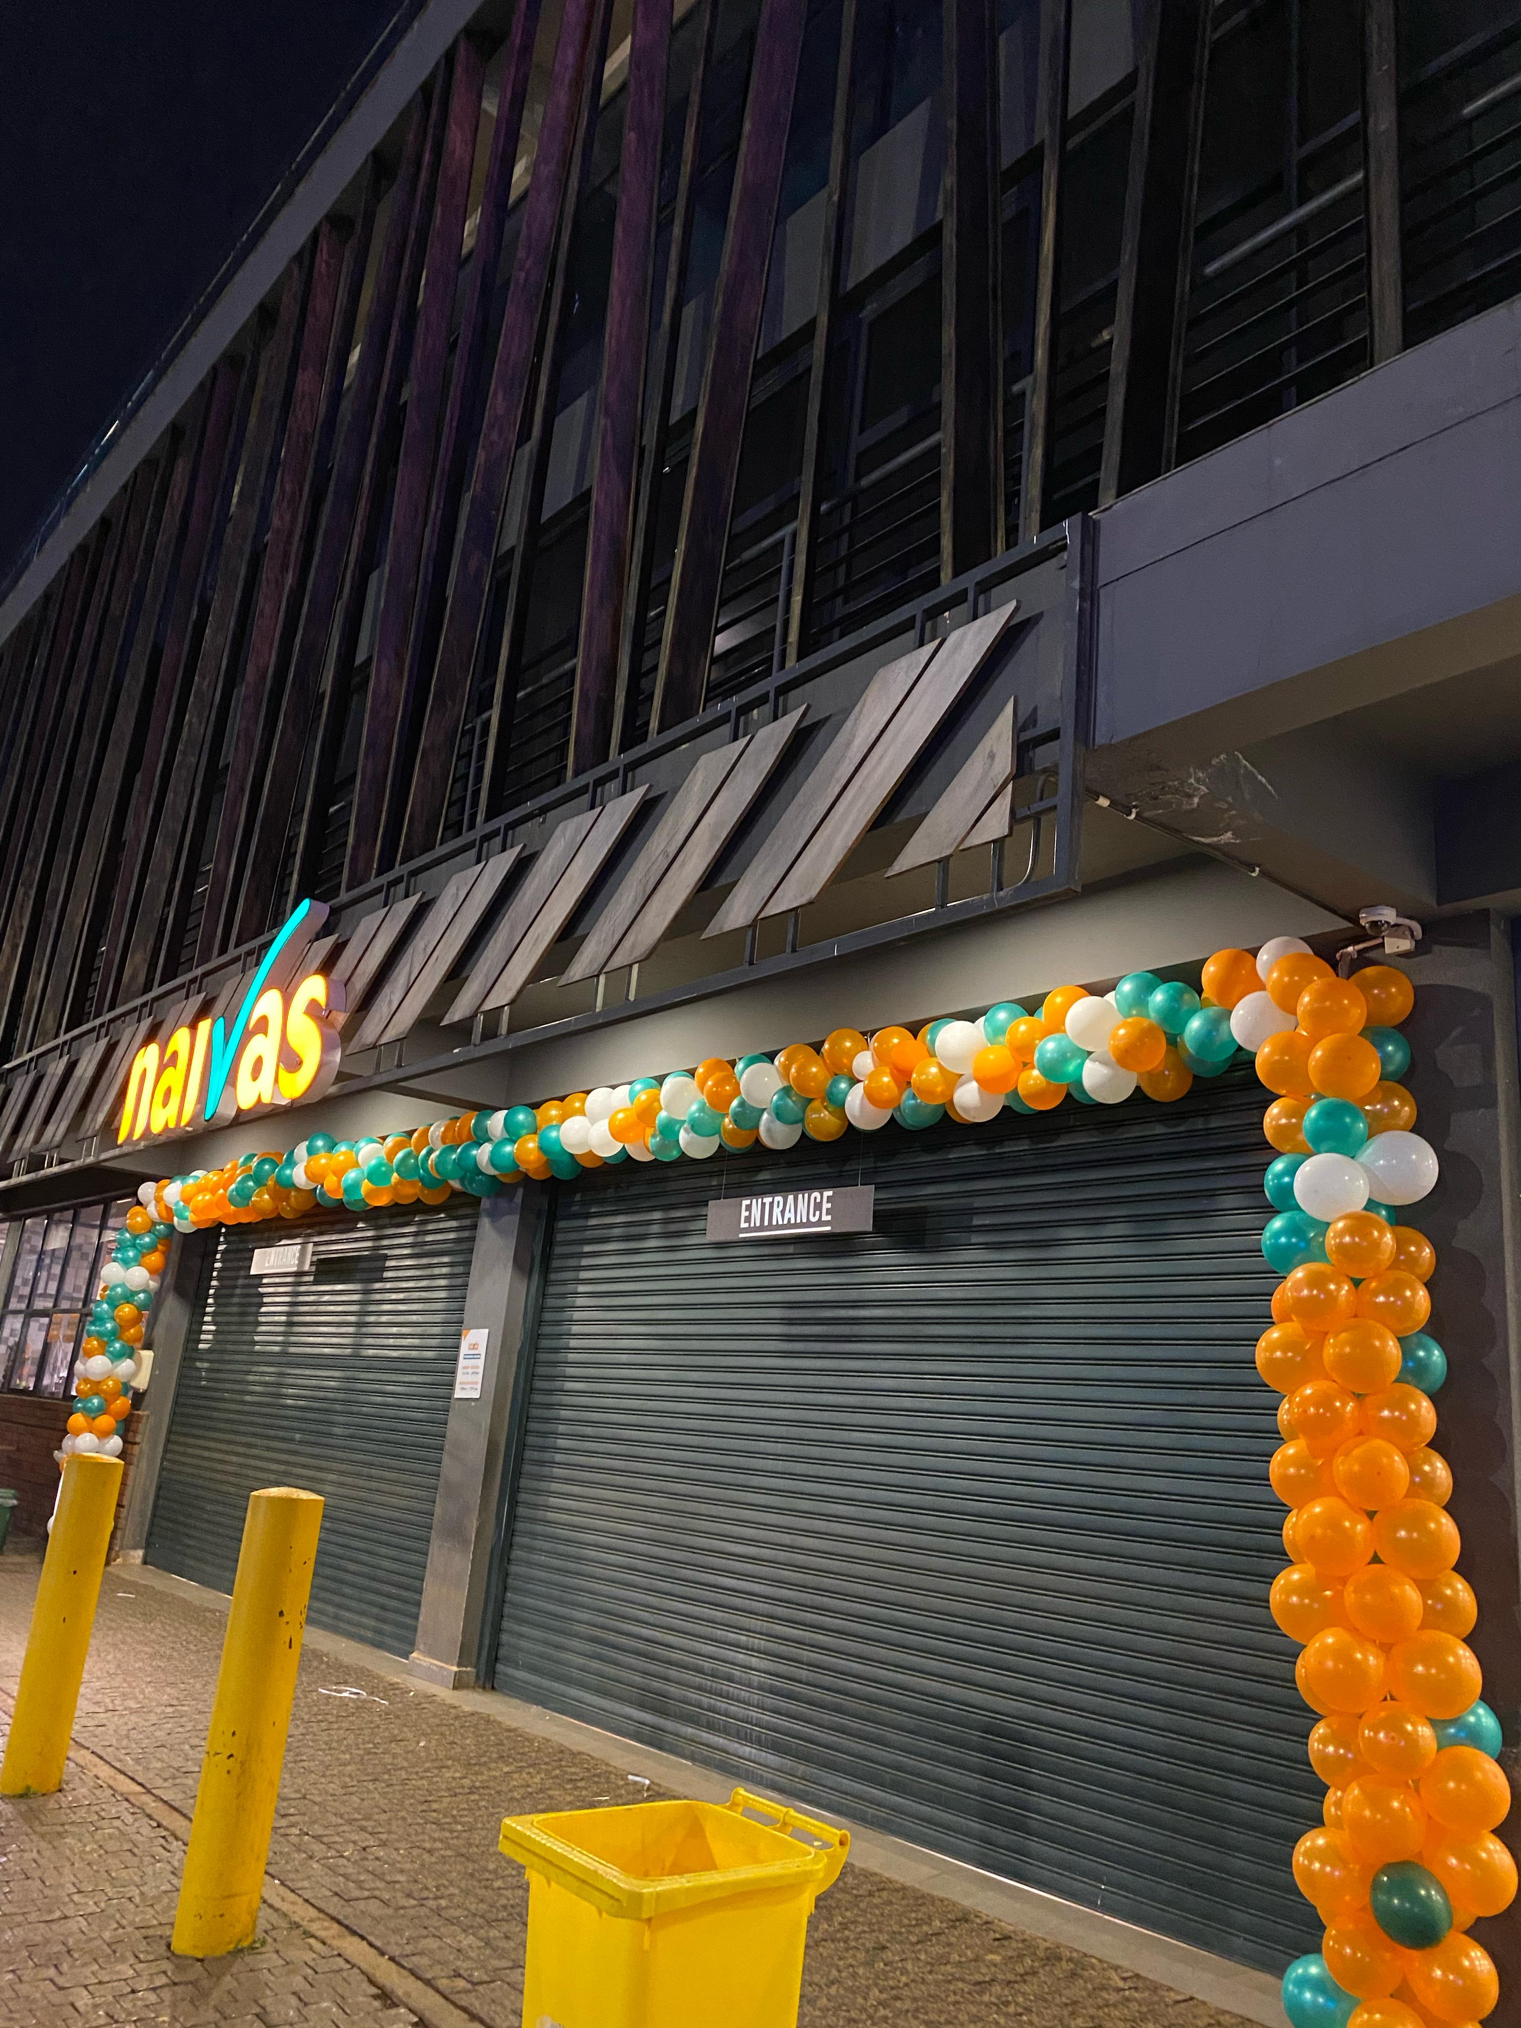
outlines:
[[[408,0],[0,22],[0,574]]]

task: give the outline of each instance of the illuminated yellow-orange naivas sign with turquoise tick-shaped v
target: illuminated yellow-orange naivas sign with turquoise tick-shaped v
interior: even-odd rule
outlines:
[[[264,953],[231,1026],[217,1020],[176,1028],[162,1051],[146,1042],[132,1059],[118,1142],[189,1126],[227,1126],[296,1099],[320,1097],[339,1069],[343,988],[310,971],[288,990],[272,984],[280,957],[320,902],[304,900]],[[327,913],[322,909],[322,913]]]

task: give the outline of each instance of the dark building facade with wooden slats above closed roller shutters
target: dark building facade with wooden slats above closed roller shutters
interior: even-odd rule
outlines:
[[[136,1186],[258,1138],[134,1124],[130,1079],[231,1018],[302,900],[343,1057],[282,1148],[1334,953],[1391,904],[1462,1178],[1442,1414],[1515,1738],[1521,12],[428,0],[339,114],[0,604],[0,1422],[24,1397],[55,1440]],[[278,1288],[258,1233],[193,1233],[124,1541],[225,1584],[243,1462],[327,1456],[318,1620],[1278,1971],[1318,1805],[1259,1600],[1272,1411],[1231,1377],[1270,1286],[1257,1117],[1221,1085],[1170,1148],[1132,1115],[939,1166],[882,1136],[886,1225],[834,1296],[694,1245],[690,1166],[316,1213]],[[1105,1227],[1085,1164],[1154,1209]],[[1065,1192],[1095,1286],[1036,1217]],[[1138,1278],[1144,1371],[1097,1286]],[[1205,1286],[1219,1343],[1168,1367]],[[1040,1332],[1101,1399],[1004,1359]],[[377,1355],[406,1442],[337,1414],[324,1338]],[[1010,1482],[1028,1537],[947,1491]],[[1190,1529],[1227,1576],[1184,1553],[1134,1612]]]

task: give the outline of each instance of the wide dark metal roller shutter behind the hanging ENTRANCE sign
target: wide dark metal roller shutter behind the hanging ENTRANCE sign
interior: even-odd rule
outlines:
[[[1263,1967],[1320,1819],[1261,1093],[558,1192],[497,1687]],[[730,1190],[860,1237],[708,1245]]]

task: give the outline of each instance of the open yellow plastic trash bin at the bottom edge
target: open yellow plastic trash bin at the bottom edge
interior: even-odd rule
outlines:
[[[527,1868],[523,2028],[797,2028],[850,1833],[736,1789],[507,1817],[501,1850]]]

